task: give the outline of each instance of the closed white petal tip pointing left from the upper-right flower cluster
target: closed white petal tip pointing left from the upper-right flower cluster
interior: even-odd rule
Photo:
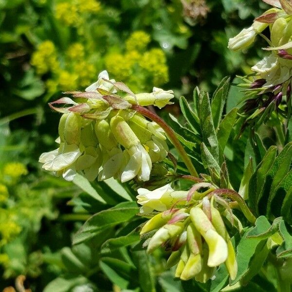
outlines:
[[[228,49],[242,50],[250,46],[256,38],[256,30],[253,26],[244,28],[237,36],[232,37],[228,41]]]

